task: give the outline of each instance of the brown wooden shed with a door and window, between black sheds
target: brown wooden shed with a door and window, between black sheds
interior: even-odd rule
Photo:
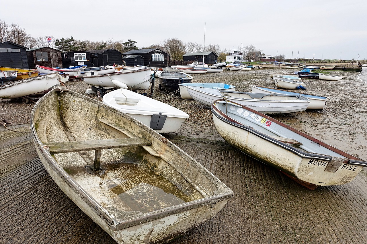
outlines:
[[[29,69],[36,69],[36,65],[62,68],[61,51],[50,47],[27,49]]]

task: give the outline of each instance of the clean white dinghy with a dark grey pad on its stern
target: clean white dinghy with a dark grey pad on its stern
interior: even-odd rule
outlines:
[[[178,108],[127,89],[108,92],[102,101],[159,133],[175,132],[189,118]]]

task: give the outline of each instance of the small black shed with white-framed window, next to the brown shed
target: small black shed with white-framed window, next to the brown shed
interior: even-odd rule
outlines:
[[[72,52],[64,52],[61,53],[62,59],[62,66],[64,68],[70,66],[79,66],[79,65],[86,65],[87,67],[95,67],[90,60],[92,58],[96,58],[90,52],[87,51],[72,51]]]

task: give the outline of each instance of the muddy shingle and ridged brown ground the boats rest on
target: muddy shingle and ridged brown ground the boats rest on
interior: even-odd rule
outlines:
[[[275,87],[272,73],[292,71],[224,71],[194,75],[193,82],[224,82],[236,85],[238,91],[251,91],[250,84]],[[367,82],[360,81],[357,72],[330,74],[344,78],[305,80],[306,90],[299,90],[328,96],[323,111],[273,117],[367,160],[367,95],[360,92],[366,90]],[[65,88],[83,93],[89,87],[73,81],[66,82]],[[157,84],[153,98],[190,115],[181,129],[165,136],[234,192],[213,219],[172,243],[367,243],[366,170],[348,184],[310,191],[226,144],[215,130],[208,106],[170,96]],[[0,121],[27,124],[32,107],[1,99]],[[114,243],[52,181],[34,150],[26,124],[9,126],[25,133],[0,129],[0,243]]]

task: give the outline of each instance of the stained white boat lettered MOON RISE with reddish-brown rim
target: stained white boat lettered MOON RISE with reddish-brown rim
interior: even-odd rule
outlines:
[[[352,181],[367,162],[249,107],[217,100],[215,128],[229,144],[310,189]]]

